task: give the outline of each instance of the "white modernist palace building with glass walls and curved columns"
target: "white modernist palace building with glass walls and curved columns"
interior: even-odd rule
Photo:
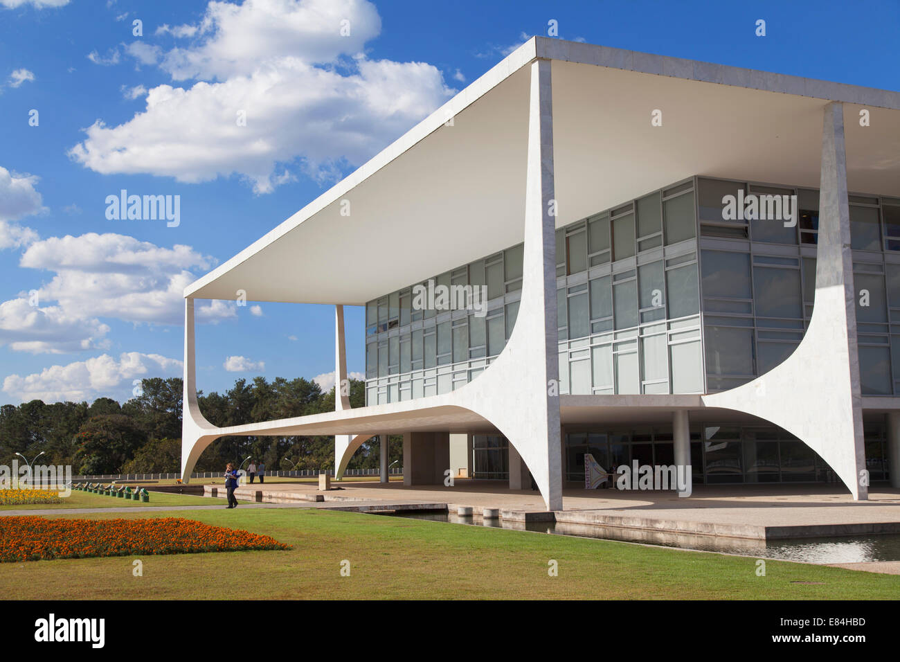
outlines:
[[[334,305],[338,383],[365,305],[365,407],[206,422],[193,301],[238,290]],[[184,296],[185,479],[224,435],[335,435],[340,476],[402,434],[406,485],[551,510],[586,453],[865,499],[900,486],[900,94],[533,38]]]

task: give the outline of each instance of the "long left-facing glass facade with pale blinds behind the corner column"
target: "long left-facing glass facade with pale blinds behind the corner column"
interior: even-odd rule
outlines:
[[[693,179],[560,228],[556,257],[561,393],[703,391]],[[366,404],[448,393],[490,365],[516,322],[522,245],[429,283],[486,286],[487,314],[419,310],[414,286],[366,304]]]

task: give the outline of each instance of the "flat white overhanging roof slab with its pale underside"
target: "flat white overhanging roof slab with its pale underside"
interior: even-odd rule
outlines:
[[[552,60],[557,227],[693,175],[818,187],[830,101],[851,192],[900,197],[900,93],[535,37],[184,295],[361,305],[519,243],[537,58]]]

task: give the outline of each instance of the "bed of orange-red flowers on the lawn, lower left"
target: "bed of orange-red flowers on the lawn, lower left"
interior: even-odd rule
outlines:
[[[0,520],[0,563],[245,549],[291,549],[291,546],[249,531],[176,517],[146,520],[4,517]]]

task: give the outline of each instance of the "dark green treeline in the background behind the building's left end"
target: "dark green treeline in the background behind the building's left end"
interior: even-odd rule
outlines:
[[[365,404],[365,385],[350,380],[350,403]],[[267,382],[238,379],[224,394],[198,394],[200,409],[216,426],[305,416],[334,411],[334,389],[323,393],[315,382],[277,377]],[[124,404],[97,398],[93,404],[32,400],[0,407],[0,464],[22,453],[38,464],[71,465],[76,474],[157,473],[181,469],[182,380],[141,380],[139,395]],[[394,438],[391,459],[402,455]],[[213,441],[195,471],[219,471],[228,462],[252,456],[269,470],[334,467],[332,437],[224,437]],[[21,458],[20,462],[21,462]],[[378,467],[379,449],[365,444],[350,468]]]

